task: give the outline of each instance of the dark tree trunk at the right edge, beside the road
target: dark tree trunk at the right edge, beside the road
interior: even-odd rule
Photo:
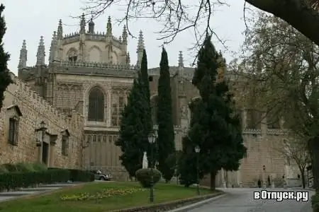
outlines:
[[[319,194],[319,136],[311,139],[310,142],[311,159],[313,167],[313,186],[315,187],[315,193]]]

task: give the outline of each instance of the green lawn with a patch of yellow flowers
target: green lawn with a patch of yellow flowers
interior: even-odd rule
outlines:
[[[208,189],[201,189],[201,195],[203,194],[211,194],[211,191]],[[121,208],[146,206],[150,204],[149,196],[150,189],[142,189],[140,184],[135,182],[91,182],[74,189],[61,189],[53,194],[26,196],[21,199],[2,202],[0,203],[0,211],[113,211]],[[196,188],[185,188],[174,184],[156,184],[155,186],[155,204],[177,199],[186,199],[192,196],[196,196]],[[78,198],[85,200],[63,200],[63,198]]]

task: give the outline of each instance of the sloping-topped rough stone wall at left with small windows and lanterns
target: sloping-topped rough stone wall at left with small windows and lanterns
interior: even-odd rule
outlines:
[[[4,93],[4,105],[0,113],[0,164],[42,161],[42,155],[45,154],[45,161],[50,167],[81,167],[83,117],[74,111],[71,116],[59,113],[13,73],[12,78],[14,83]],[[18,110],[21,116],[18,116],[15,146],[9,143],[9,119],[19,114]],[[44,136],[46,150],[43,149],[46,145],[36,145],[40,138],[35,130],[40,127],[40,122],[45,122],[47,126]],[[62,131],[66,130],[69,133],[68,148],[63,155]]]

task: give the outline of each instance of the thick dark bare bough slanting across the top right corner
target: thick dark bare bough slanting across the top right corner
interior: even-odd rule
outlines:
[[[303,0],[245,0],[262,11],[274,14],[319,45],[318,11]]]

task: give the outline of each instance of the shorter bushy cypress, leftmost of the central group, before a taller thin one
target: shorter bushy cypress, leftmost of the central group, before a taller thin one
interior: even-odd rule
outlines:
[[[128,104],[124,107],[119,138],[116,141],[116,146],[120,146],[123,153],[120,156],[121,163],[130,177],[135,177],[135,172],[142,168],[143,152],[147,151],[149,146],[149,129],[145,128],[145,111],[149,106],[144,88],[139,72],[128,96]]]

